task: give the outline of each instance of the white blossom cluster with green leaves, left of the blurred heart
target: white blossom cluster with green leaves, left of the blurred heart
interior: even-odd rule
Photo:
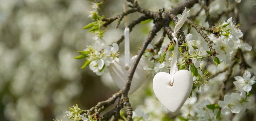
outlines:
[[[74,57],[75,59],[86,58],[81,69],[89,65],[89,69],[101,76],[104,72],[108,72],[108,68],[119,55],[119,45],[113,43],[112,46],[107,46],[106,42],[98,36],[93,37],[95,45],[88,46],[83,51],[78,51],[81,55]]]

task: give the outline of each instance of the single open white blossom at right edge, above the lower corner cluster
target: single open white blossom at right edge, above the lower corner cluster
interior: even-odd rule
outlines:
[[[247,70],[245,70],[243,77],[236,76],[233,83],[237,86],[239,91],[245,91],[250,92],[251,91],[251,85],[255,83],[255,76],[253,76],[251,79],[251,73]]]

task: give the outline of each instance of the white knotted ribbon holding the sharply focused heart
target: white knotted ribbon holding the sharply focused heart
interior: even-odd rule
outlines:
[[[180,19],[178,20],[177,24],[175,25],[174,32],[171,34],[173,39],[175,40],[175,48],[173,50],[171,69],[170,69],[170,82],[169,83],[171,85],[173,85],[173,82],[174,82],[174,74],[175,74],[175,72],[178,71],[177,59],[178,59],[179,44],[178,44],[176,32],[178,32],[180,30],[180,28],[182,27],[182,25],[184,24],[184,22],[186,21],[188,16],[189,16],[189,11],[187,11],[187,8],[185,8]]]

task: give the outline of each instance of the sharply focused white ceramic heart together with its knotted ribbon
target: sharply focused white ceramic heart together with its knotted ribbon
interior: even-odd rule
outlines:
[[[193,87],[191,72],[188,70],[178,71],[177,67],[178,39],[176,37],[176,32],[184,24],[188,14],[189,11],[187,12],[185,8],[181,18],[175,26],[174,33],[172,34],[176,44],[173,51],[170,74],[159,72],[153,79],[153,90],[157,99],[172,113],[177,112],[183,106]]]

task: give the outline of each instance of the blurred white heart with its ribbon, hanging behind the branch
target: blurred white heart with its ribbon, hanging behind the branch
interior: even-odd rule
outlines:
[[[125,28],[124,36],[125,36],[125,58],[116,58],[115,62],[109,65],[109,72],[112,76],[113,81],[116,85],[122,89],[125,85],[129,68],[132,66],[137,55],[133,56],[130,59],[130,49],[129,49],[129,28]],[[128,33],[128,34],[127,34]],[[132,83],[130,86],[130,90],[128,94],[132,94],[135,92],[145,81],[147,77],[147,72],[144,71],[143,67],[147,66],[147,59],[142,57],[138,66],[134,72]]]

